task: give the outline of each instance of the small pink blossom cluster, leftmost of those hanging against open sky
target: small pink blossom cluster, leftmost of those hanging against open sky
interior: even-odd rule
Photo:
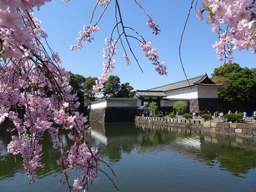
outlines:
[[[82,47],[83,47],[82,42],[92,43],[92,40],[94,40],[94,38],[91,36],[91,33],[99,31],[100,28],[98,28],[98,26],[92,26],[90,24],[88,27],[83,26],[83,29],[84,29],[84,31],[79,32],[80,37],[76,38],[78,44],[76,46],[71,45],[70,46],[71,50],[82,49]]]

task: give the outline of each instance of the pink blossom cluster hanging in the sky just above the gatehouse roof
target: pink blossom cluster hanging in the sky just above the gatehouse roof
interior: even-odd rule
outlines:
[[[139,44],[141,49],[146,52],[145,56],[148,58],[148,60],[153,61],[153,65],[157,65],[155,68],[159,75],[166,75],[166,65],[163,65],[164,62],[159,62],[159,56],[157,55],[157,49],[154,49],[151,47],[151,42],[143,42]]]

